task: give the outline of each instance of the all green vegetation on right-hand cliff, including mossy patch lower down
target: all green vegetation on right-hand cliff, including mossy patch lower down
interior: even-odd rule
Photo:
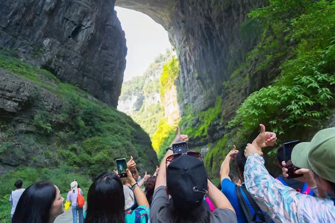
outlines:
[[[306,140],[303,132],[322,128],[324,118],[333,112],[334,1],[270,0],[268,6],[249,14],[246,22],[251,20],[263,24],[262,39],[224,84],[230,86],[235,76],[240,76],[247,78],[249,89],[253,89],[251,71],[270,75],[276,70],[279,75],[268,87],[247,97],[227,124],[229,133],[212,145],[206,156],[206,168],[212,176],[217,176],[232,144],[244,147],[255,136],[259,123],[279,134],[280,142],[291,137]]]

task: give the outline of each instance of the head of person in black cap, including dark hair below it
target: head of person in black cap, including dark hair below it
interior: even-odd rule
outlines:
[[[202,205],[208,180],[201,160],[190,155],[174,159],[167,166],[166,190],[172,197],[173,222],[209,222],[209,211]]]

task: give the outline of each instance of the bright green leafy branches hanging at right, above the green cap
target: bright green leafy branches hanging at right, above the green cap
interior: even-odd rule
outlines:
[[[289,128],[321,124],[322,118],[329,114],[335,84],[335,6],[324,1],[313,6],[313,10],[309,4],[303,7],[304,12],[311,12],[292,18],[286,27],[287,44],[298,43],[291,47],[296,58],[280,66],[281,75],[271,86],[245,100],[228,127],[240,126],[239,133],[244,134],[252,132],[258,123],[268,121],[275,132],[283,134]],[[282,11],[285,15],[287,7]]]

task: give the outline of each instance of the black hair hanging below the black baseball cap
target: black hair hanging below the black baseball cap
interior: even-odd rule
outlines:
[[[177,209],[172,202],[167,207],[173,223],[210,223],[210,211],[202,205],[202,202],[192,209]]]

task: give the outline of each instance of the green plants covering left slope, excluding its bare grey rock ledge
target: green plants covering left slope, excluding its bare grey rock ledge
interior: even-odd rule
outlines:
[[[1,143],[1,153],[15,154],[29,166],[57,168],[66,164],[90,179],[113,170],[116,158],[127,158],[131,154],[142,167],[155,159],[147,154],[148,135],[124,113],[76,87],[61,83],[45,70],[3,54],[0,54],[0,68],[32,81],[40,91],[48,90],[64,102],[61,113],[54,114],[40,104],[37,94],[31,103],[39,110],[33,111],[33,120],[26,119],[23,123],[34,126],[37,131],[25,133],[19,143],[16,143],[14,128],[17,120],[6,119],[7,127],[0,129],[1,140],[5,140]],[[28,158],[29,154],[32,157]],[[148,166],[148,171],[154,169],[154,164]]]

